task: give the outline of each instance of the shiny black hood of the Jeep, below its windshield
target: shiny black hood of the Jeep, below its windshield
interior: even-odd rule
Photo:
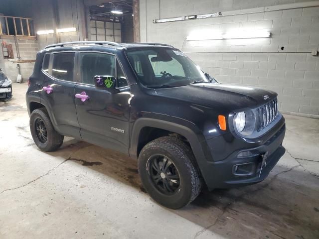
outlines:
[[[256,108],[275,99],[277,93],[255,87],[218,83],[198,83],[181,87],[156,89],[163,97],[230,111]]]

